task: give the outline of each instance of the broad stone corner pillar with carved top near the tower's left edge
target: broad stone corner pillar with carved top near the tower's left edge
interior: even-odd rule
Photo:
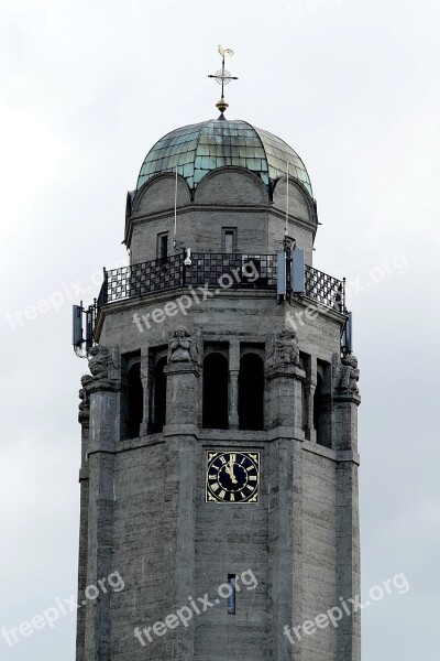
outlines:
[[[110,661],[110,594],[99,589],[99,581],[114,571],[112,566],[113,465],[118,434],[120,392],[119,353],[97,345],[89,351],[92,380],[86,389],[90,399],[88,438],[89,505],[87,535],[87,586],[80,597],[85,615],[84,661]],[[96,586],[96,589],[94,589]],[[92,598],[90,588],[97,598]]]

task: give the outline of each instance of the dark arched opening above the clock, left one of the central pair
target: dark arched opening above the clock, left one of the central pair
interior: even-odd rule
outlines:
[[[228,359],[218,353],[208,354],[204,360],[204,418],[208,430],[229,427]]]

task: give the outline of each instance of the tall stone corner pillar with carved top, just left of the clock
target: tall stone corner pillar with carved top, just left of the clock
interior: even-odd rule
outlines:
[[[178,326],[169,342],[166,384],[165,566],[168,613],[195,596],[195,495],[197,488],[197,423],[199,353],[189,332]],[[193,661],[194,618],[188,628],[166,635],[166,659]],[[176,654],[178,650],[178,654]]]

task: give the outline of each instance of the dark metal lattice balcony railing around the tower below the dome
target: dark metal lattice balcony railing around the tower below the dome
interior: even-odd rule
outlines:
[[[219,254],[195,252],[191,266],[184,254],[105,271],[98,307],[182,286],[209,285],[219,290],[275,290],[276,254]],[[345,312],[344,281],[306,266],[305,295],[317,303]]]

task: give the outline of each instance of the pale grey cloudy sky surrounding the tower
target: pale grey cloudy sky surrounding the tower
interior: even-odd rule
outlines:
[[[439,22],[437,0],[2,0],[0,628],[76,592],[72,303],[124,258],[152,144],[217,117],[221,43],[229,117],[302,158],[315,266],[352,294],[363,589],[410,584],[364,610],[363,661],[438,661]],[[74,638],[67,615],[0,658],[73,661]]]

